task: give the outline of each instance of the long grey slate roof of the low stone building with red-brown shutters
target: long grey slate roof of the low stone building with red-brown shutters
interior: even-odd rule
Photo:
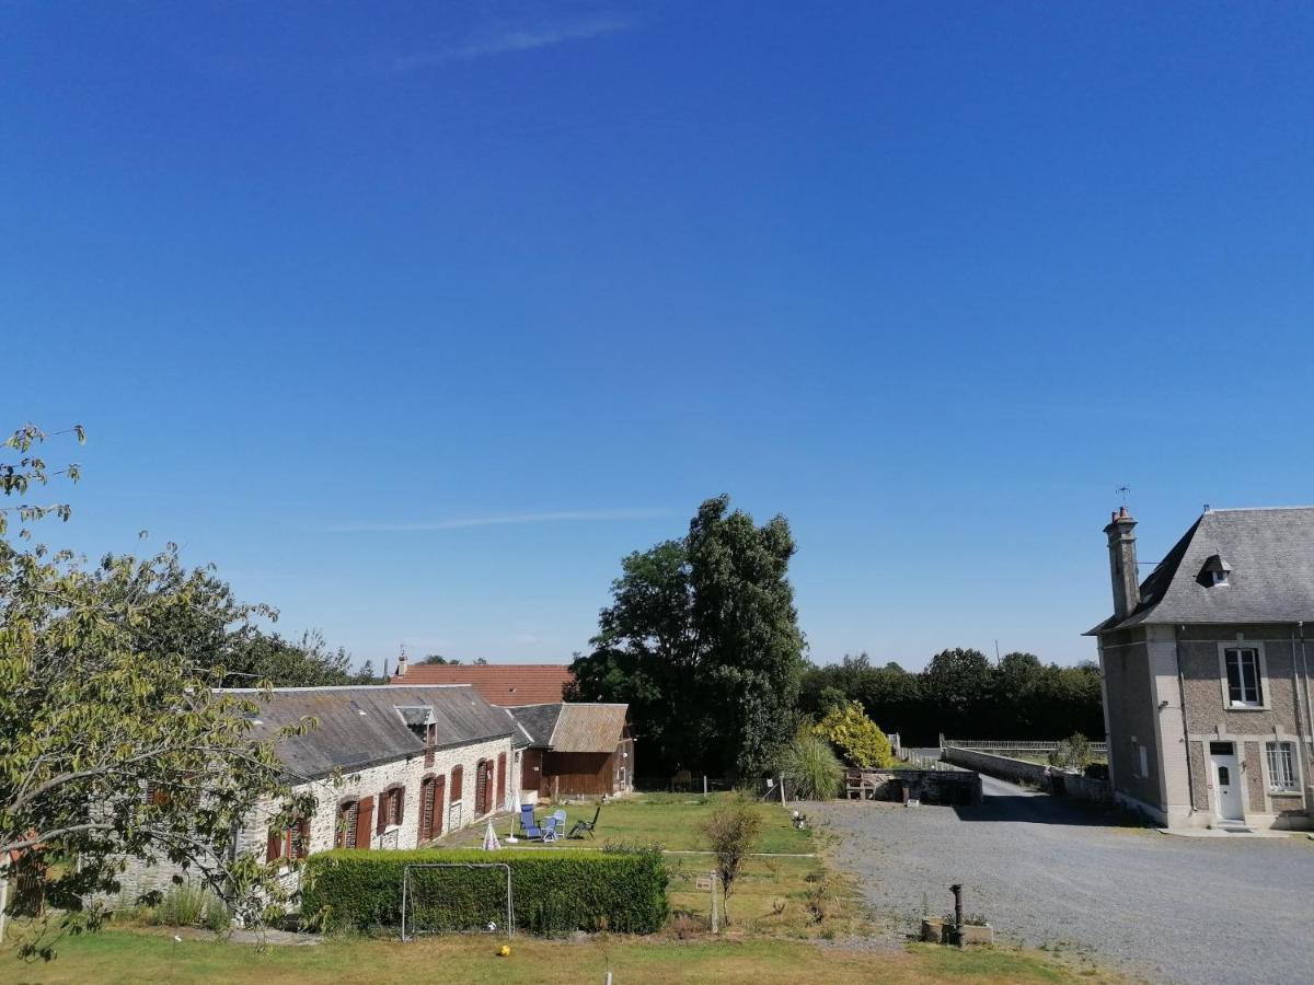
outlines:
[[[436,747],[451,749],[518,734],[505,711],[494,708],[470,687],[353,686],[275,688],[268,700],[258,690],[239,688],[260,705],[254,733],[271,737],[304,716],[318,728],[306,735],[281,739],[279,758],[293,776],[325,776],[335,768],[364,770],[409,755],[423,755],[424,742],[406,720],[420,724],[428,709],[436,725]],[[405,713],[398,713],[405,708]],[[405,717],[403,717],[405,716]]]

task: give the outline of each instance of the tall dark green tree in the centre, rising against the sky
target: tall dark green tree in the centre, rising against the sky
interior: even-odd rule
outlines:
[[[570,700],[628,703],[666,768],[765,772],[792,733],[804,666],[794,550],[783,517],[758,527],[728,496],[706,500],[686,537],[622,561]]]

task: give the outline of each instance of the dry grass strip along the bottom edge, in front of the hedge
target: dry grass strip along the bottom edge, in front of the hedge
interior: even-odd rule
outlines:
[[[518,938],[511,956],[495,956],[501,938],[443,938],[409,944],[328,940],[318,947],[268,947],[214,940],[173,940],[171,931],[108,930],[62,942],[49,964],[20,964],[0,948],[7,982],[386,982],[442,977],[468,985],[602,982],[610,971],[625,982],[825,981],[934,984],[1113,982],[1037,952],[961,952],[917,946],[865,951],[791,940],[698,942],[597,936],[585,942]]]

